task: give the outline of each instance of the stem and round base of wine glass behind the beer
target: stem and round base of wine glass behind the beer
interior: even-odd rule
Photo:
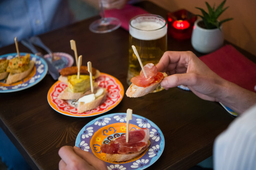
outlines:
[[[89,26],[90,31],[94,33],[108,33],[118,29],[121,26],[119,19],[113,17],[105,17],[103,1],[104,0],[99,0],[101,19],[94,21]]]

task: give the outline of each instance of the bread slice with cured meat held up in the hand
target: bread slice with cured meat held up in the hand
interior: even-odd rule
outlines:
[[[156,66],[148,63],[144,66],[147,78],[141,70],[140,75],[131,79],[132,84],[126,91],[128,97],[141,97],[152,92],[160,82],[167,77],[164,72],[158,72]]]

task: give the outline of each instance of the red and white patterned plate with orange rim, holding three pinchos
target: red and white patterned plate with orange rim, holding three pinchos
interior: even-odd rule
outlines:
[[[67,87],[67,84],[61,81],[54,83],[48,91],[48,103],[55,111],[63,115],[72,117],[90,117],[103,114],[113,109],[121,102],[124,96],[124,87],[117,78],[106,73],[100,73],[100,76],[95,79],[95,82],[98,82],[99,87],[107,89],[105,102],[95,109],[83,113],[77,113],[78,102],[75,102],[75,100],[58,99],[58,95]]]

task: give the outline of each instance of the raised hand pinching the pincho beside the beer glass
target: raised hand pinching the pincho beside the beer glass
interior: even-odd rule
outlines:
[[[162,87],[185,85],[204,100],[217,101],[226,83],[191,51],[166,51],[156,67],[169,75],[161,81]]]

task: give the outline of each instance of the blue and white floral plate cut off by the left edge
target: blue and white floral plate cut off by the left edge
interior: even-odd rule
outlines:
[[[24,79],[22,79],[21,81],[12,83],[10,85],[6,84],[5,80],[1,80],[0,93],[9,93],[9,92],[15,92],[15,91],[27,89],[37,84],[45,77],[48,71],[48,66],[45,60],[37,55],[31,54],[31,53],[29,54],[30,54],[30,60],[35,61],[35,66],[30,72],[30,74]],[[27,53],[20,52],[20,56],[22,55],[27,55]],[[16,57],[16,56],[17,56],[17,53],[9,53],[9,54],[0,55],[0,59],[3,59],[3,58],[12,59],[13,57]]]

